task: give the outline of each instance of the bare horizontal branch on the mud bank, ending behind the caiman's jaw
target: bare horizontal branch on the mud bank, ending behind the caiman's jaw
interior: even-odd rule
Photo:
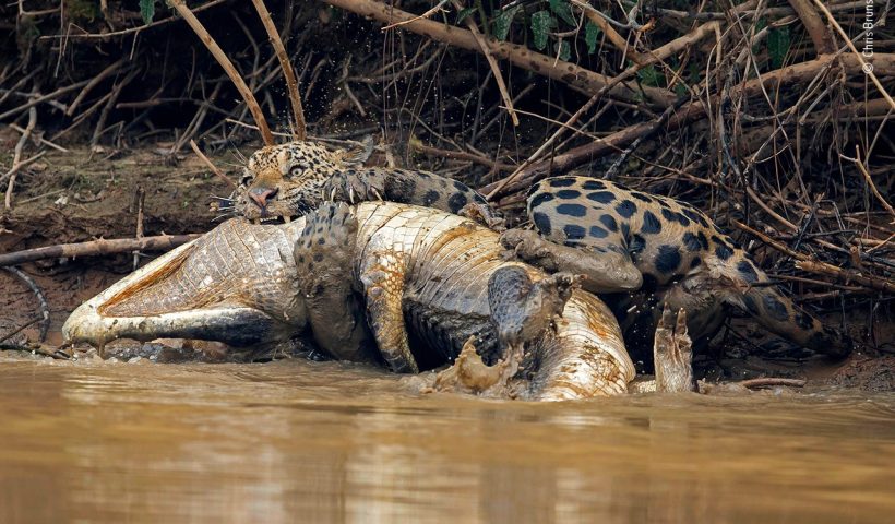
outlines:
[[[201,236],[201,234],[159,235],[156,237],[143,237],[139,240],[134,238],[117,238],[112,240],[100,238],[99,240],[91,240],[88,242],[59,243],[56,246],[0,254],[0,267],[45,259],[95,257],[127,253],[134,250],[166,251],[182,246]]]

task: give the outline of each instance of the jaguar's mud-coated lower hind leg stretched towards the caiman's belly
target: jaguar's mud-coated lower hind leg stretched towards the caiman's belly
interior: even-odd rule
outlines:
[[[589,253],[586,248],[560,246],[527,229],[510,229],[500,241],[518,259],[549,273],[584,275],[582,287],[590,293],[631,291],[643,284],[643,275],[625,253]]]

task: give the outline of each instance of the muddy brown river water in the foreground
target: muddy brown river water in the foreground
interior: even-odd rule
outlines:
[[[0,362],[0,522],[895,519],[895,394],[560,404],[337,362]]]

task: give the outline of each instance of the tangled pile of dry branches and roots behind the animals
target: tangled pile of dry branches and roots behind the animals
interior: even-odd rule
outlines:
[[[888,314],[888,3],[663,4],[267,2],[311,134],[381,133],[389,162],[426,163],[506,209],[573,169],[672,194],[740,230],[801,299],[860,306],[870,323]],[[0,8],[15,37],[2,43],[0,122],[25,130],[33,117],[53,143],[152,140],[175,157],[191,139],[251,140],[248,107],[195,35],[160,2],[140,5]],[[251,5],[191,9],[288,133],[288,91]]]

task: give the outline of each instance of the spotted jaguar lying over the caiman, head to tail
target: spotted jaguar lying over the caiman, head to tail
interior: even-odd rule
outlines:
[[[427,171],[362,167],[349,153],[308,142],[254,153],[234,200],[235,212],[250,219],[288,222],[325,200],[385,200],[499,222],[485,199],[461,182]],[[652,349],[665,305],[687,311],[697,344],[714,335],[733,308],[799,345],[833,356],[850,352],[847,335],[799,309],[690,204],[563,176],[535,184],[527,206],[537,233],[511,229],[502,237],[504,246],[549,271],[584,274],[585,288],[612,307],[633,354]]]

